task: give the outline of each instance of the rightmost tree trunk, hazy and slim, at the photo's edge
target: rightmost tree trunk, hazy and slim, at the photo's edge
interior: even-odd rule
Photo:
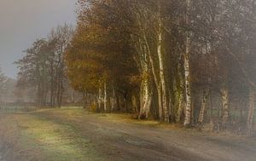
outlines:
[[[254,95],[255,89],[251,88],[249,92],[249,109],[247,115],[247,135],[253,135]]]

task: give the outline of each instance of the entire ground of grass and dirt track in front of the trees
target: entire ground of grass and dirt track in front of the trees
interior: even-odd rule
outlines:
[[[4,160],[253,160],[255,138],[209,134],[81,108],[1,115]]]

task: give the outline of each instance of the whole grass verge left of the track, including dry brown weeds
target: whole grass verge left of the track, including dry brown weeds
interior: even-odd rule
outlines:
[[[102,160],[90,140],[71,124],[47,120],[35,112],[5,118],[2,124],[9,125],[0,129],[3,157],[8,160]]]

